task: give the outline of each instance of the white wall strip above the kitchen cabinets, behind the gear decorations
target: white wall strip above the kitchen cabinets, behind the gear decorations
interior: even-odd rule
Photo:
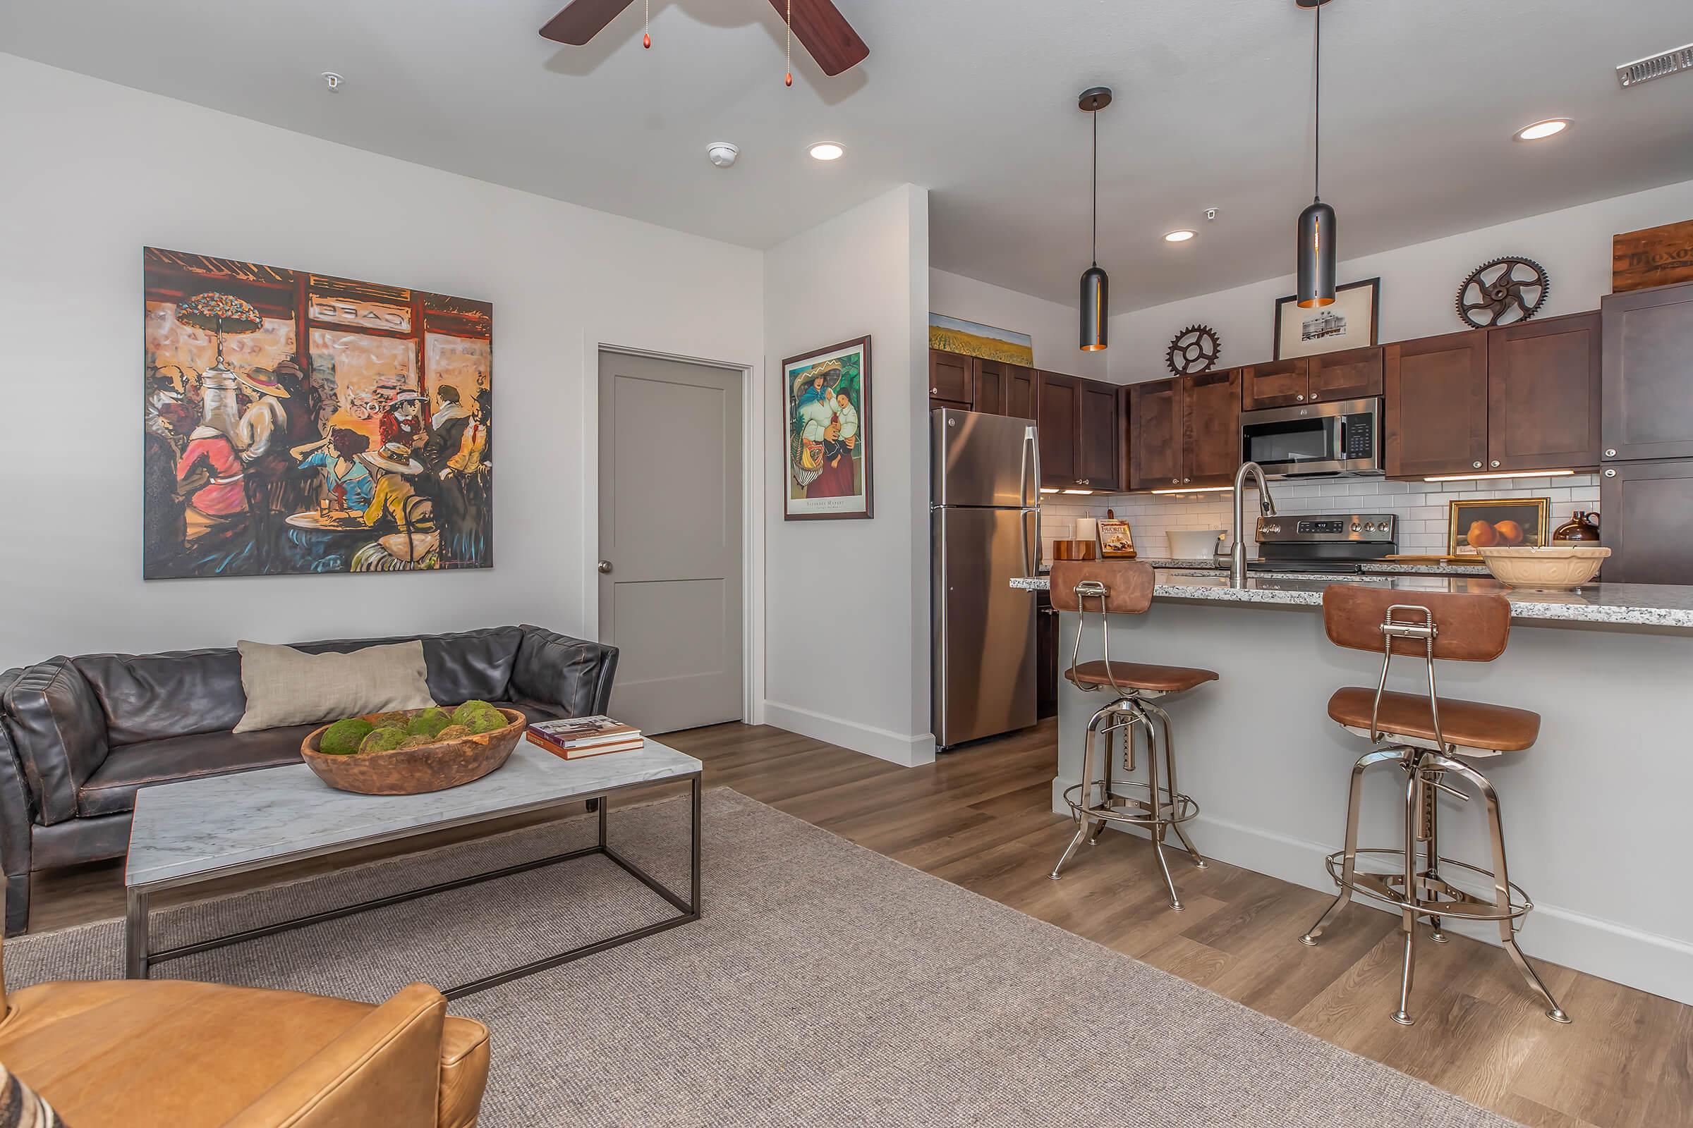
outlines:
[[[1341,247],[1346,216],[1341,215]],[[1610,293],[1610,240],[1620,232],[1693,218],[1693,181],[1547,211],[1427,244],[1385,250],[1339,264],[1341,284],[1381,279],[1380,340],[1410,340],[1468,328],[1458,320],[1458,284],[1500,255],[1525,255],[1546,267],[1552,293],[1539,316],[1596,309]],[[1287,260],[1293,262],[1293,216]],[[1293,293],[1293,276],[1185,298],[1111,318],[1111,379],[1117,384],[1170,375],[1165,348],[1195,321],[1222,337],[1222,365],[1270,360],[1275,301]]]

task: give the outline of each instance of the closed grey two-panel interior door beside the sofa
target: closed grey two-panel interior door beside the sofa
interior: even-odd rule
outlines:
[[[647,732],[743,715],[742,458],[738,370],[599,353],[599,639]]]

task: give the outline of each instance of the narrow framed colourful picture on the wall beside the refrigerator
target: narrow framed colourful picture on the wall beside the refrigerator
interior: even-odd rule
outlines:
[[[870,516],[870,338],[782,362],[789,521]]]

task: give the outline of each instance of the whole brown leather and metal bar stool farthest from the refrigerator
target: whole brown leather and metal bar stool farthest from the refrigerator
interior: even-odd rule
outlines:
[[[1441,700],[1434,687],[1434,660],[1493,661],[1510,638],[1510,604],[1503,595],[1415,594],[1336,583],[1322,594],[1322,624],[1329,641],[1349,649],[1381,653],[1381,676],[1375,690],[1344,688],[1329,698],[1329,717],[1348,732],[1375,744],[1353,764],[1346,800],[1346,847],[1329,854],[1329,876],[1339,895],[1300,940],[1315,944],[1336,913],[1359,893],[1400,912],[1405,934],[1405,971],[1393,1021],[1409,1027],[1410,981],[1417,962],[1417,918],[1427,917],[1436,944],[1446,942],[1444,918],[1492,920],[1498,939],[1529,986],[1546,1001],[1547,1018],[1568,1023],[1569,1016],[1546,989],[1517,947],[1517,928],[1534,901],[1505,871],[1505,832],[1498,817],[1498,795],[1480,771],[1463,759],[1517,753],[1534,744],[1539,714],[1483,702]],[[1427,666],[1429,692],[1395,693],[1387,688],[1393,654],[1420,656]],[[1358,847],[1358,800],[1365,769],[1395,764],[1405,773],[1403,847]],[[1439,808],[1436,793],[1470,802],[1470,795],[1446,781],[1470,783],[1486,807],[1493,869],[1441,857]],[[1417,851],[1422,847],[1419,861]],[[1395,873],[1359,873],[1359,854],[1397,859]],[[1492,881],[1492,900],[1475,896],[1441,878],[1441,869],[1461,869]]]

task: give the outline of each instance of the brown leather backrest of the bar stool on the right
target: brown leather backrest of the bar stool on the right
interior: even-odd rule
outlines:
[[[1056,570],[1053,572],[1053,605]],[[1381,624],[1388,611],[1402,624],[1420,624],[1417,611],[1427,607],[1434,621],[1434,658],[1448,661],[1493,661],[1505,653],[1510,638],[1510,600],[1497,594],[1393,592],[1356,583],[1334,583],[1322,592],[1322,627],[1329,641],[1349,649],[1383,653],[1387,638]],[[1429,654],[1419,638],[1395,638],[1393,653],[1412,658]]]

